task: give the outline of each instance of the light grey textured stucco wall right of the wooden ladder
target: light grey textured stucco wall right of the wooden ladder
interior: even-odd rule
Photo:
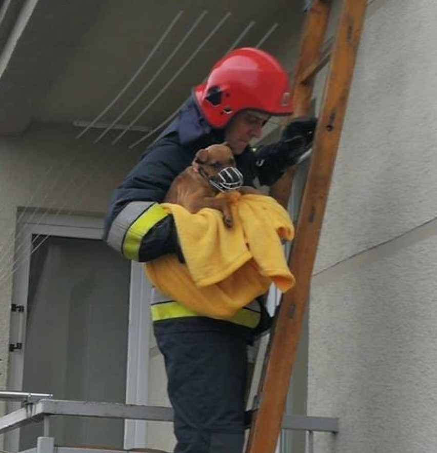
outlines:
[[[436,451],[437,4],[374,0],[313,279],[315,451]]]

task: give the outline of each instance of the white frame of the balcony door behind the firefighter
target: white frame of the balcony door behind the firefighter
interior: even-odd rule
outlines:
[[[22,316],[11,318],[11,343],[21,341],[25,344],[26,313],[29,290],[29,271],[32,248],[32,235],[54,235],[66,238],[101,239],[103,219],[90,216],[25,214],[17,225],[16,270],[13,279],[13,302],[25,307]],[[143,265],[131,262],[128,351],[126,370],[126,403],[147,404],[148,367],[150,349],[150,285],[145,278]],[[7,388],[23,389],[24,349],[15,350],[9,355]],[[14,410],[17,403],[8,403],[7,411]],[[144,447],[146,440],[145,421],[126,420],[124,429],[124,448]],[[19,429],[5,434],[5,449],[18,451]]]

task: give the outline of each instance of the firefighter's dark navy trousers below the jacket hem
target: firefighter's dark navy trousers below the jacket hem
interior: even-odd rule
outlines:
[[[222,332],[156,332],[174,409],[175,453],[241,453],[247,342]]]

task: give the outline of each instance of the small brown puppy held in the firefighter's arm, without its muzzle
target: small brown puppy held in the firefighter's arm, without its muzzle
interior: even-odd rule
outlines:
[[[235,168],[235,159],[226,143],[197,151],[191,166],[173,181],[164,202],[184,206],[192,213],[202,208],[218,209],[223,212],[225,225],[231,227],[229,203],[226,197],[215,197],[219,190],[209,181],[227,167]]]

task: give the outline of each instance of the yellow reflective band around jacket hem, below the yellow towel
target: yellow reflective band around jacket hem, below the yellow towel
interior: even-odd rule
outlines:
[[[152,320],[153,321],[164,321],[168,319],[177,318],[189,318],[194,316],[202,316],[188,308],[185,308],[182,304],[175,301],[162,302],[151,305]],[[238,311],[232,318],[223,320],[241,326],[255,328],[261,319],[260,312],[253,311],[249,308],[243,308]]]

